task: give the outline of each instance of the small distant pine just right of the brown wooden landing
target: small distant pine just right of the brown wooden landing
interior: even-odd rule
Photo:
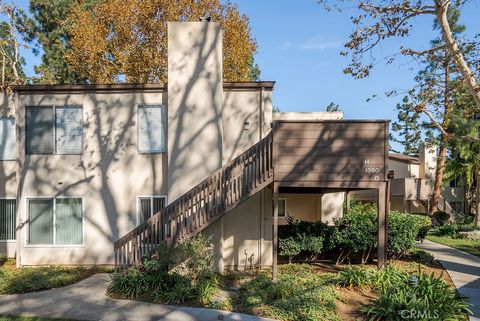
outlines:
[[[397,104],[397,120],[392,123],[392,131],[397,135],[390,134],[390,140],[399,143],[404,147],[404,154],[410,156],[418,155],[419,145],[422,139],[420,126],[420,115],[415,111],[408,96],[403,97],[402,103]],[[399,151],[391,149],[399,153]]]

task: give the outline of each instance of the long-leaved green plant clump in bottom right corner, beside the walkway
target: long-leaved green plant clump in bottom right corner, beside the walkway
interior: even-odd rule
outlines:
[[[338,274],[341,286],[376,290],[378,298],[361,307],[367,320],[467,320],[468,303],[443,278],[396,266],[381,270],[349,266]]]

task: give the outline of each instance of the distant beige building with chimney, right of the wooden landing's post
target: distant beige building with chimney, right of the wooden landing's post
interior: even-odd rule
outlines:
[[[428,213],[435,182],[435,147],[422,144],[418,157],[390,153],[388,168],[395,171],[390,192],[391,209],[407,213]],[[373,201],[375,196],[370,191],[361,191],[352,192],[349,197]],[[459,180],[444,184],[439,209],[448,213],[464,212],[464,192]]]

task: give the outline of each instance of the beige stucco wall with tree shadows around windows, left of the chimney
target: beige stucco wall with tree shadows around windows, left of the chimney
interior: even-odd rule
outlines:
[[[166,157],[137,151],[139,104],[165,104],[166,93],[108,92],[30,94],[17,109],[17,251],[21,265],[113,263],[113,241],[136,224],[139,195],[165,195]],[[25,155],[25,106],[83,106],[82,155]],[[26,199],[78,196],[84,203],[84,245],[28,246]]]

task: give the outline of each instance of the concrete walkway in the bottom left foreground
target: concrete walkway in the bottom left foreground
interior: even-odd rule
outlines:
[[[102,321],[268,321],[227,311],[114,300],[105,296],[108,281],[108,274],[96,274],[63,288],[0,295],[0,315]]]

